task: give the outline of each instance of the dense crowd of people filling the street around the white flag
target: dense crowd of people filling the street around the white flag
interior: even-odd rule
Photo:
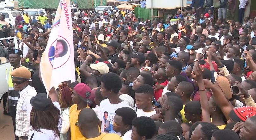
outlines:
[[[196,11],[179,9],[175,24],[125,10],[72,14],[76,82],[50,98],[39,67],[54,16],[3,25],[19,44],[0,47],[15,139],[254,140],[256,18],[213,24],[211,9]]]

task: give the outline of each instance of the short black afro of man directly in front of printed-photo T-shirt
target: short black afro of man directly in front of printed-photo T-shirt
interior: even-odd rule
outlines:
[[[132,120],[137,118],[136,112],[129,107],[121,107],[116,110],[116,115],[122,117],[122,122],[124,125],[129,125],[132,127]]]

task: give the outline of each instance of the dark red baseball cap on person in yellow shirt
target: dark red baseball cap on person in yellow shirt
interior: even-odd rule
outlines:
[[[74,87],[74,90],[76,91],[77,94],[82,96],[83,101],[85,101],[89,104],[92,104],[92,101],[89,98],[92,93],[92,90],[87,84],[79,83]]]

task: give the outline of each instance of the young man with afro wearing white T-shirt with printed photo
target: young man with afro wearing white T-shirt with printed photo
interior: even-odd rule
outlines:
[[[91,67],[94,65],[91,64]],[[115,132],[111,125],[114,125],[115,111],[121,107],[131,108],[124,100],[118,96],[119,90],[122,88],[121,79],[115,73],[107,73],[101,76],[101,94],[108,99],[102,100],[98,119],[101,124],[101,133],[115,133],[119,136],[121,133]]]

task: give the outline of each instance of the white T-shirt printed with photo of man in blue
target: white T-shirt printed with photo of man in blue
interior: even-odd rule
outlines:
[[[121,107],[131,108],[125,101],[122,101],[119,104],[111,104],[109,99],[101,101],[100,110],[98,114],[98,119],[102,121],[101,133],[114,133],[121,136],[121,133],[117,133],[113,130],[113,122],[116,115],[115,111]]]

